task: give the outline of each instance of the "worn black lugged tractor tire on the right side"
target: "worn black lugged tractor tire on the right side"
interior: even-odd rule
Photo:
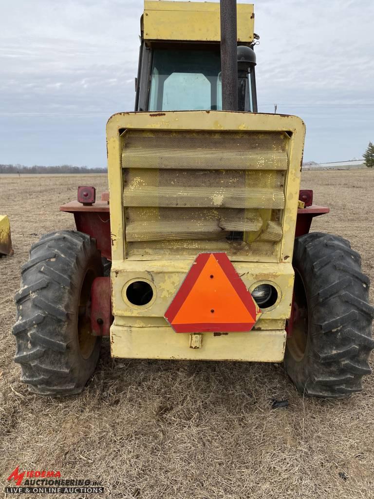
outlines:
[[[374,308],[360,254],[338,236],[295,239],[294,316],[285,368],[299,392],[344,398],[362,390],[370,374]]]

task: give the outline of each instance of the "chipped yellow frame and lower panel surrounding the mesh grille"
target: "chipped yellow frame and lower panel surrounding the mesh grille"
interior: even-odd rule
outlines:
[[[285,341],[284,326],[290,314],[293,291],[294,272],[291,261],[300,186],[300,160],[305,133],[303,122],[294,116],[223,111],[166,112],[162,113],[163,116],[153,115],[152,117],[151,114],[147,112],[118,113],[112,116],[107,124],[113,257],[111,280],[115,316],[111,329],[113,355],[149,358],[282,360]],[[266,281],[272,282],[279,289],[280,299],[271,309],[263,311],[261,319],[251,333],[230,333],[217,337],[210,333],[203,333],[201,348],[193,349],[189,347],[188,334],[178,335],[167,325],[164,313],[186,277],[194,257],[174,255],[168,256],[167,259],[157,259],[151,250],[144,251],[141,255],[127,254],[126,213],[122,199],[121,135],[126,130],[135,129],[144,130],[150,134],[155,134],[152,132],[153,129],[216,130],[217,133],[221,133],[220,130],[256,131],[256,133],[287,132],[284,134],[288,144],[287,155],[285,158],[280,158],[280,151],[274,150],[272,159],[279,170],[283,169],[285,209],[276,221],[271,219],[272,210],[266,208],[261,210],[262,227],[254,232],[255,239],[260,239],[269,229],[273,231],[274,238],[280,237],[279,241],[275,239],[279,248],[277,255],[230,257],[247,288],[256,282]],[[200,133],[199,131],[196,133]],[[256,161],[255,164],[259,168],[264,167],[263,155],[259,154],[256,158],[252,158],[252,161]],[[284,166],[281,161],[285,161]],[[267,175],[268,177],[264,175],[262,179],[264,185],[271,182],[270,173]],[[251,175],[248,175],[248,182],[250,181]],[[133,182],[130,188],[135,189],[137,185],[140,185],[141,179],[135,177]],[[218,190],[213,196],[213,204],[217,207],[221,206],[222,194],[224,193]],[[275,199],[274,195],[272,198]],[[250,210],[248,210],[249,215]],[[275,222],[282,228],[279,235],[276,233]],[[123,287],[131,279],[150,280],[154,284],[157,295],[150,306],[133,307],[124,301]],[[210,341],[214,341],[214,346]]]

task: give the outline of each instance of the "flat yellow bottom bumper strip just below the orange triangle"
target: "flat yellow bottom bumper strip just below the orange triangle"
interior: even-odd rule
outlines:
[[[113,357],[238,360],[281,362],[286,331],[178,334],[171,327],[129,327],[113,324],[110,330]]]

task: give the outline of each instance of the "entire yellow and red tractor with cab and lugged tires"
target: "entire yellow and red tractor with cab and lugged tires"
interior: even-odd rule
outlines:
[[[107,124],[109,193],[32,246],[15,361],[34,392],[80,392],[102,336],[119,358],[281,362],[297,389],[362,389],[369,279],[300,191],[305,126],[257,112],[253,5],[145,1],[135,112]],[[111,269],[110,269],[111,267]],[[109,274],[110,271],[110,274]]]

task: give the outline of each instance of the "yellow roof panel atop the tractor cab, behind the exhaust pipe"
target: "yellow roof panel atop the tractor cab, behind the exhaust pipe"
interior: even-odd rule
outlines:
[[[145,40],[219,42],[219,3],[187,1],[144,2]],[[237,4],[237,39],[253,40],[253,4]]]

